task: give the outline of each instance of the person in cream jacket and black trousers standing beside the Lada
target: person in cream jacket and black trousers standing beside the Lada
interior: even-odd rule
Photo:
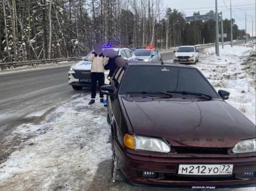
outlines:
[[[96,97],[96,88],[97,88],[97,81],[99,88],[104,85],[105,82],[105,76],[104,76],[104,66],[108,63],[108,56],[104,56],[102,54],[102,46],[101,48],[95,47],[95,51],[92,52],[89,56],[88,61],[92,62],[92,69],[91,69],[91,101],[89,102],[89,105],[92,105],[95,103],[95,97]],[[100,101],[103,103],[104,101],[104,95],[100,91]]]

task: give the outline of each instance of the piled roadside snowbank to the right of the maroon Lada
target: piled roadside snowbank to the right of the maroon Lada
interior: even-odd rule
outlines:
[[[242,46],[225,45],[220,56],[215,47],[205,49],[197,64],[216,90],[229,91],[229,104],[255,120],[255,43]]]

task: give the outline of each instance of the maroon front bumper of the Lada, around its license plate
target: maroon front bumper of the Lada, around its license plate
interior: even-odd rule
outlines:
[[[119,174],[128,184],[138,187],[163,188],[245,188],[255,187],[255,177],[243,177],[256,171],[255,157],[248,158],[160,158],[124,153],[116,148]],[[233,164],[231,176],[178,176],[179,164]],[[156,177],[145,178],[142,172],[155,172]]]

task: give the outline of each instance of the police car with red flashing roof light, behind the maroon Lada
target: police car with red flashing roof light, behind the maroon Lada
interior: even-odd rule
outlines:
[[[162,58],[160,53],[152,46],[137,47],[133,52],[138,60],[161,62]]]

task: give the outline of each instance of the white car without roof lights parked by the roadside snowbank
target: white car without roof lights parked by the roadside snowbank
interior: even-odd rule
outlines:
[[[180,46],[173,56],[173,63],[191,63],[198,62],[199,51],[195,46]]]

